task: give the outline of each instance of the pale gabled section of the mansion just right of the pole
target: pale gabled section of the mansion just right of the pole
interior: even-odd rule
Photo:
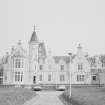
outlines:
[[[91,68],[88,56],[82,51],[79,44],[78,51],[72,59],[72,84],[91,84]]]

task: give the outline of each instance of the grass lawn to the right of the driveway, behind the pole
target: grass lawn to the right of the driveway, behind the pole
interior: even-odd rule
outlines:
[[[69,102],[68,96],[69,91],[65,91],[63,97]],[[105,87],[73,87],[72,103],[73,105],[105,105]]]

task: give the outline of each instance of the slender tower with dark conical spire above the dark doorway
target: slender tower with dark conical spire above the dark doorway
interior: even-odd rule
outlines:
[[[34,30],[29,41],[29,71],[30,71],[30,82],[32,84],[36,83],[36,72],[38,70],[38,49],[39,49],[39,41]]]

